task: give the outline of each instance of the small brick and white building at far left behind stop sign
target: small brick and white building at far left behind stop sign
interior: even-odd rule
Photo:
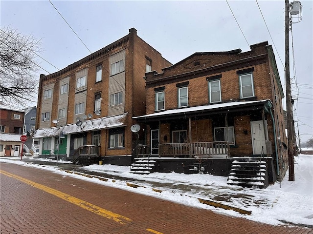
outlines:
[[[20,156],[24,123],[23,110],[0,106],[0,156]]]

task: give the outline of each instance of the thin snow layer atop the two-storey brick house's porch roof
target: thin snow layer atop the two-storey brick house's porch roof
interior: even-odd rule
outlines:
[[[154,118],[154,117],[165,117],[165,116],[175,116],[179,114],[188,114],[193,112],[199,112],[199,111],[208,111],[208,110],[223,110],[225,108],[234,108],[237,107],[240,108],[241,106],[246,105],[255,105],[255,104],[262,104],[267,103],[270,101],[269,99],[266,100],[259,100],[259,101],[233,101],[233,102],[225,102],[225,103],[219,103],[219,104],[212,104],[212,105],[205,105],[205,106],[194,106],[189,108],[180,108],[180,109],[173,109],[173,110],[167,110],[162,112],[157,112],[145,116],[138,116],[133,117],[134,119],[147,119],[147,118]]]

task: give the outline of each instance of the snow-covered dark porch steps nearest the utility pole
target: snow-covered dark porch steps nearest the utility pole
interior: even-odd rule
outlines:
[[[238,158],[231,164],[227,184],[243,187],[268,187],[268,169],[266,161],[260,158]]]

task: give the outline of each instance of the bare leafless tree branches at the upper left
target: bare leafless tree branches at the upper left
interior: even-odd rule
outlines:
[[[0,28],[0,101],[27,106],[37,100],[40,41],[14,29]]]

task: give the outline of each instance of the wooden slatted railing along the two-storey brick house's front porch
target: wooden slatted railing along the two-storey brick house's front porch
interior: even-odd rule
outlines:
[[[159,144],[160,157],[228,157],[227,141]]]

